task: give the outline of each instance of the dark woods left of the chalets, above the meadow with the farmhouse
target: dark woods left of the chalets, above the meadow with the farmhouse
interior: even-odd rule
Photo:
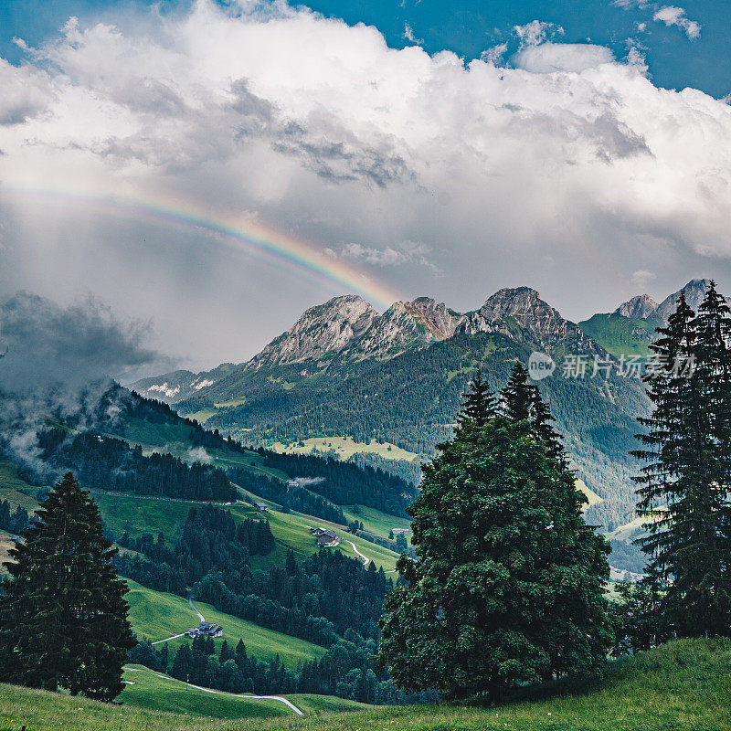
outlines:
[[[173,549],[165,546],[162,533],[156,539],[152,535],[132,539],[125,533],[119,544],[144,556],[116,556],[121,574],[159,591],[185,595],[186,587],[205,577],[212,567],[231,574],[241,567],[249,571],[249,557],[270,554],[274,536],[267,521],[236,523],[230,511],[201,505],[190,509]]]

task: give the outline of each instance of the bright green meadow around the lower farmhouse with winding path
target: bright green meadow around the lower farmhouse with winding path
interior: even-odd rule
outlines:
[[[130,619],[139,638],[164,640],[196,627],[200,621],[182,597],[142,587],[129,579],[127,584],[130,587],[126,595],[130,605]],[[296,667],[298,662],[320,658],[325,653],[323,647],[312,642],[268,630],[247,620],[239,620],[238,617],[224,614],[203,602],[196,601],[195,604],[207,621],[216,622],[223,627],[223,638],[216,641],[217,646],[224,638],[228,640],[228,644],[234,646],[240,639],[244,641],[249,654],[260,660],[270,660],[279,655],[281,662],[288,668]],[[181,637],[170,641],[170,650],[175,651],[184,641],[189,640]]]

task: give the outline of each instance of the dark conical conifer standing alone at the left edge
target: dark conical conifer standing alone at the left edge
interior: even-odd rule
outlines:
[[[111,701],[136,643],[127,587],[99,510],[72,474],[59,482],[5,563],[0,679]]]

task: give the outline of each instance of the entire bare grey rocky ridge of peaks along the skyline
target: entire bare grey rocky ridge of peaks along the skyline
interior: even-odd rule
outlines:
[[[703,299],[707,285],[707,280],[693,280],[683,287],[694,310]],[[648,295],[638,295],[621,304],[615,312],[631,319],[655,316],[666,322],[679,296],[680,291],[675,292],[658,305]],[[469,314],[450,310],[429,297],[418,297],[413,302],[395,302],[379,315],[362,297],[346,295],[311,307],[288,331],[246,364],[223,365],[201,374],[178,371],[144,379],[132,384],[132,388],[143,396],[176,403],[189,397],[205,398],[211,387],[227,390],[229,381],[234,384],[230,388],[233,393],[238,374],[251,373],[252,369],[309,363],[315,369],[332,373],[337,365],[369,358],[392,358],[455,334],[477,333],[503,334],[548,354],[558,349],[564,353],[608,356],[593,337],[563,318],[529,287],[497,291],[479,310]]]

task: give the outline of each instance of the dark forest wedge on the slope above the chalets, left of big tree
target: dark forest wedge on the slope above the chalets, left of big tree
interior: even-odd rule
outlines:
[[[309,489],[338,505],[367,505],[384,513],[406,516],[417,489],[396,475],[352,462],[307,454],[281,454],[259,449],[268,467],[312,479]]]

